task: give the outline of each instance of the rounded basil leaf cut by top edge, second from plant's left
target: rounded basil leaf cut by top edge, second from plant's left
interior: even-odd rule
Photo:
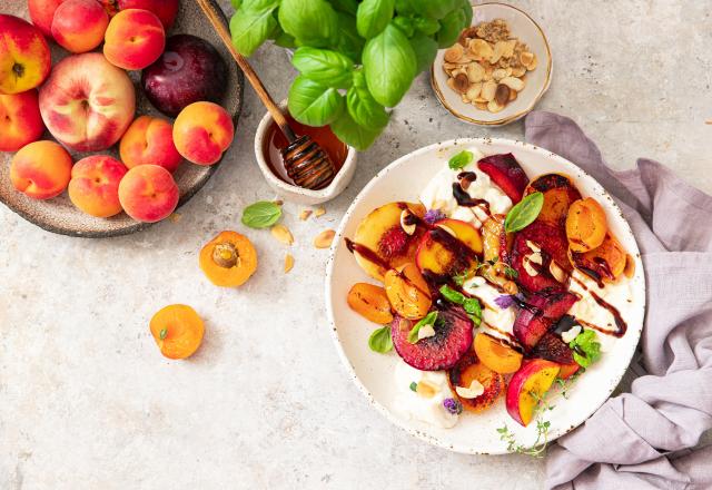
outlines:
[[[281,0],[278,17],[299,46],[325,48],[338,36],[336,10],[326,0]]]

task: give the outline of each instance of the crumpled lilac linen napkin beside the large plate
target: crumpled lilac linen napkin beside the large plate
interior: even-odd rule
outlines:
[[[609,168],[574,121],[532,112],[526,140],[578,165],[617,199],[647,282],[644,374],[548,451],[547,488],[710,489],[712,445],[712,197],[661,164]]]

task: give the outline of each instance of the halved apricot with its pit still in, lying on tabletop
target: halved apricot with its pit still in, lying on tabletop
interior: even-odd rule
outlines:
[[[220,232],[200,251],[200,268],[212,284],[237,287],[257,270],[257,251],[237,232]]]

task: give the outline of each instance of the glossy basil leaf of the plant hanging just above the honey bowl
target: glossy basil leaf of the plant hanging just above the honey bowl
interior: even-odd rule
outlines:
[[[337,89],[310,80],[304,75],[297,77],[289,89],[289,114],[308,126],[326,126],[344,112],[344,96]]]

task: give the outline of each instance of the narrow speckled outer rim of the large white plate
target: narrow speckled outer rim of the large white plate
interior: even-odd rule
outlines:
[[[447,141],[441,141],[441,143],[435,143],[433,145],[428,145],[425,146],[423,148],[419,148],[415,151],[412,151],[407,155],[402,156],[400,158],[396,159],[395,161],[390,163],[389,165],[387,165],[386,167],[384,167],[380,171],[378,171],[369,182],[368,184],[366,184],[366,186],[364,186],[364,188],[358,193],[358,195],[356,196],[356,198],[354,199],[354,202],[352,203],[352,205],[348,207],[348,209],[346,210],[346,213],[344,214],[344,217],[342,218],[338,228],[336,231],[336,235],[334,237],[334,241],[332,243],[332,246],[329,248],[329,257],[327,259],[326,263],[326,277],[325,277],[325,302],[326,302],[326,312],[327,312],[327,317],[328,317],[328,322],[329,322],[329,331],[330,331],[330,335],[332,335],[332,341],[334,342],[334,345],[336,346],[336,351],[338,353],[338,356],[342,360],[342,364],[346,367],[346,371],[348,373],[348,376],[352,379],[352,381],[356,384],[356,386],[358,388],[358,390],[364,394],[364,396],[366,396],[366,399],[368,400],[368,403],[376,409],[377,412],[379,412],[383,416],[385,416],[390,423],[393,423],[394,425],[398,427],[400,430],[407,432],[408,434],[425,441],[429,444],[436,445],[438,448],[443,448],[446,449],[448,451],[453,451],[453,452],[457,452],[457,453],[463,453],[463,454],[507,454],[508,452],[506,450],[502,450],[502,451],[493,451],[493,452],[485,452],[481,449],[477,449],[476,447],[464,447],[464,445],[457,445],[457,444],[453,444],[449,443],[447,441],[444,441],[439,438],[433,437],[431,434],[427,434],[421,430],[417,429],[413,429],[409,427],[406,427],[406,421],[404,421],[402,418],[399,418],[397,414],[393,413],[392,411],[389,411],[386,406],[384,406],[380,402],[378,402],[374,395],[368,391],[368,389],[364,385],[364,383],[360,381],[360,379],[358,378],[358,374],[356,373],[356,369],[354,367],[354,365],[352,364],[350,360],[348,359],[348,355],[346,354],[344,346],[342,345],[342,340],[338,336],[338,332],[336,329],[336,321],[335,321],[335,314],[334,314],[334,297],[333,297],[333,292],[332,292],[332,281],[334,277],[334,266],[335,266],[335,258],[336,258],[336,253],[339,248],[339,244],[340,242],[344,239],[344,232],[347,227],[347,225],[349,224],[350,220],[350,216],[354,214],[354,212],[362,206],[363,202],[366,199],[367,195],[369,194],[370,189],[373,187],[375,187],[382,179],[387,178],[388,174],[390,170],[393,170],[394,168],[402,166],[402,165],[407,165],[408,161],[419,155],[429,153],[432,150],[435,149],[446,149],[446,148],[451,148],[451,147],[463,147],[466,145],[475,145],[475,146],[488,146],[488,145],[508,145],[511,146],[513,149],[517,149],[517,148],[525,148],[527,150],[532,150],[535,153],[538,153],[540,155],[544,156],[545,158],[551,158],[552,160],[554,160],[554,163],[556,165],[561,165],[562,167],[564,167],[566,170],[574,173],[574,175],[577,175],[577,178],[585,178],[585,179],[590,179],[591,180],[591,185],[592,187],[594,187],[596,189],[596,192],[599,192],[603,197],[606,197],[610,202],[611,208],[613,210],[616,212],[617,215],[620,215],[621,217],[621,225],[623,227],[623,232],[629,234],[630,237],[632,238],[632,244],[634,245],[634,247],[632,249],[629,249],[629,253],[631,255],[633,255],[633,257],[635,258],[635,265],[636,265],[636,276],[640,274],[641,277],[641,282],[640,282],[640,297],[641,297],[641,311],[642,311],[642,315],[641,315],[641,321],[640,324],[635,324],[633,325],[634,329],[630,329],[631,325],[629,325],[629,330],[626,332],[626,335],[634,335],[635,336],[635,341],[634,343],[632,343],[632,346],[630,349],[630,352],[627,353],[626,359],[624,360],[624,365],[625,369],[621,370],[620,373],[615,373],[615,375],[611,379],[610,385],[606,390],[606,395],[605,398],[602,399],[602,401],[597,404],[592,404],[591,410],[587,413],[582,413],[582,416],[578,416],[573,423],[571,423],[570,427],[565,428],[565,429],[558,429],[558,430],[553,430],[548,433],[548,441],[552,442],[556,439],[558,439],[560,437],[571,432],[572,430],[576,429],[578,425],[581,425],[583,422],[585,422],[593,413],[595,413],[596,410],[599,410],[603,403],[605,403],[610,398],[611,394],[613,393],[613,391],[616,389],[616,386],[620,384],[621,380],[623,379],[623,376],[625,375],[625,372],[627,371],[627,366],[630,366],[631,361],[633,359],[633,356],[635,355],[635,352],[637,350],[637,344],[640,343],[640,337],[643,331],[643,325],[644,325],[644,320],[645,320],[645,315],[646,315],[646,311],[647,311],[647,305],[646,305],[646,281],[645,281],[645,274],[644,274],[644,267],[643,267],[643,262],[641,258],[641,254],[640,254],[640,247],[637,246],[637,239],[635,238],[635,235],[633,234],[633,229],[631,228],[627,219],[625,219],[625,217],[623,216],[623,212],[621,209],[621,207],[617,205],[617,203],[615,202],[615,199],[613,199],[610,194],[605,190],[605,188],[595,179],[593,178],[591,175],[589,175],[585,170],[583,170],[581,167],[576,166],[575,164],[568,161],[567,159],[554,154],[553,151],[550,151],[547,149],[531,145],[525,141],[520,141],[520,140],[514,140],[514,139],[505,139],[505,138],[455,138],[455,139],[451,139]],[[364,278],[366,276],[364,275]],[[364,349],[367,349],[367,346],[364,346]],[[452,430],[452,429],[451,429]]]

